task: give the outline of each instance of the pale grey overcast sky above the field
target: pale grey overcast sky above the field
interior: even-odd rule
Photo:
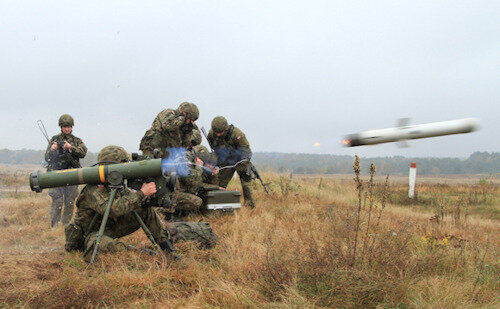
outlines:
[[[191,101],[254,151],[466,157],[500,151],[499,72],[499,1],[1,0],[0,148],[45,148],[36,120],[52,136],[69,113],[91,151],[136,151],[158,112]],[[339,144],[402,117],[482,128]]]

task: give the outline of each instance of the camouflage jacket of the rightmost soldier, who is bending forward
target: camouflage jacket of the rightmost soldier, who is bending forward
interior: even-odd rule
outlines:
[[[210,130],[207,139],[217,155],[218,166],[228,166],[252,158],[250,143],[245,134],[233,125],[230,125],[227,132],[221,136],[215,135],[213,130]],[[242,163],[241,166],[246,168],[248,164]]]

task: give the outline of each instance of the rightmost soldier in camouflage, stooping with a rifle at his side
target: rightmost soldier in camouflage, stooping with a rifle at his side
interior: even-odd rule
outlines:
[[[237,127],[229,125],[226,118],[217,116],[212,120],[212,128],[207,139],[217,155],[217,165],[221,168],[219,185],[223,188],[227,187],[234,172],[237,172],[243,190],[244,205],[254,208],[255,200],[250,172],[252,150],[245,134]]]

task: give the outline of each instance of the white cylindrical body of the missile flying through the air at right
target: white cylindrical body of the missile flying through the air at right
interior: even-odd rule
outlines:
[[[377,129],[347,135],[342,143],[346,147],[400,142],[409,139],[436,137],[476,131],[479,121],[475,118],[432,122],[413,126]]]

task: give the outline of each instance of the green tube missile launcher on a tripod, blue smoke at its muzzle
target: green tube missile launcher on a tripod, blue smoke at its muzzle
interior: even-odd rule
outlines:
[[[46,188],[74,186],[81,184],[109,185],[109,200],[107,201],[104,214],[102,214],[102,220],[99,227],[99,232],[97,233],[97,238],[91,247],[91,249],[93,248],[93,251],[89,262],[90,264],[95,261],[111,211],[111,205],[113,204],[113,200],[116,196],[117,191],[123,188],[125,180],[130,187],[135,189],[140,189],[142,183],[144,182],[154,181],[156,184],[156,193],[148,197],[145,206],[172,207],[172,193],[175,191],[176,185],[178,183],[177,175],[189,175],[188,164],[190,163],[185,160],[185,156],[183,155],[174,156],[173,159],[149,159],[148,157],[133,155],[132,159],[132,162],[126,163],[115,163],[110,165],[101,164],[98,166],[55,170],[50,172],[36,171],[30,174],[30,187],[31,190],[36,192],[42,192],[42,190]],[[225,198],[227,197],[226,193],[223,197],[224,199],[222,199],[222,201],[227,202],[227,198]],[[238,206],[241,207],[241,204],[239,202],[239,195],[237,198]],[[207,205],[207,203],[205,203],[205,205]],[[174,256],[174,258],[180,258],[170,240],[165,240],[164,247],[162,247],[162,244],[158,244],[157,240],[154,239],[153,235],[151,234],[139,214],[137,214],[135,210],[132,211],[132,214],[135,216],[135,219],[144,230],[145,234],[147,235],[155,249],[168,249],[168,251],[171,252],[171,254]],[[88,231],[92,230],[92,227],[95,224],[97,218],[98,214],[96,213],[90,223],[90,226],[87,228]],[[91,249],[87,250],[84,253],[84,256],[89,254]]]

